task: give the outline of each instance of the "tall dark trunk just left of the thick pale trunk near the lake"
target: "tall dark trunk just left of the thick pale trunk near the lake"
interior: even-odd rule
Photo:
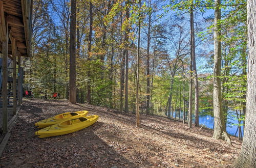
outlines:
[[[191,37],[191,53],[193,59],[193,75],[195,82],[195,126],[199,126],[199,88],[198,88],[198,77],[197,77],[197,64],[196,64],[196,45],[195,45],[195,30],[194,30],[194,5],[190,7],[190,37]]]

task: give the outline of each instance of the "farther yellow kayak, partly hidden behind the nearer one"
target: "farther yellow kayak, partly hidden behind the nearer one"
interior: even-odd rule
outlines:
[[[61,121],[65,121],[68,119],[74,119],[77,117],[84,117],[88,114],[88,111],[75,111],[75,112],[67,112],[67,113],[62,113],[60,115],[51,117],[49,119],[41,120],[37,123],[35,123],[35,127],[37,128],[45,128],[49,127],[51,125],[60,123]]]

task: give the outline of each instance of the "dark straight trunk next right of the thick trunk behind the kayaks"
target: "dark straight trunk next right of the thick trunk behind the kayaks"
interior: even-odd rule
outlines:
[[[91,61],[92,53],[91,53],[91,48],[92,48],[92,32],[93,32],[93,5],[92,2],[90,1],[90,30],[89,30],[89,36],[88,36],[88,62]],[[91,100],[91,66],[88,64],[88,70],[87,70],[87,102],[89,104],[92,103]]]

